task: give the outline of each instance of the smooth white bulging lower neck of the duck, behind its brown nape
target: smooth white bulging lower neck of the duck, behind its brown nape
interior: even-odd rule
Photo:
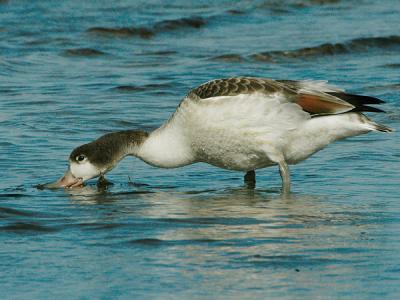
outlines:
[[[187,136],[173,124],[154,130],[132,149],[132,155],[160,168],[177,168],[195,162]]]

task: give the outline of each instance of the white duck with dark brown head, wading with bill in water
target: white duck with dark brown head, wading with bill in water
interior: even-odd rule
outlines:
[[[75,148],[64,176],[48,187],[76,188],[111,171],[124,157],[178,168],[194,163],[243,172],[254,188],[255,171],[278,166],[282,192],[290,192],[289,165],[327,145],[371,131],[392,132],[364,112],[384,101],[346,93],[315,80],[232,77],[193,88],[154,131],[107,133]]]

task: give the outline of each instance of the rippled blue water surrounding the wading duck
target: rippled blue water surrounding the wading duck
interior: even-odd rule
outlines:
[[[1,1],[3,299],[396,299],[399,133],[242,174],[125,159],[114,185],[37,190],[77,145],[160,125],[218,77],[329,79],[399,130],[398,1]]]

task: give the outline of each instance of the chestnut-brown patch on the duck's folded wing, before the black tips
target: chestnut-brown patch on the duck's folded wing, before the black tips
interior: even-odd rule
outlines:
[[[296,103],[311,114],[337,114],[350,111],[353,105],[340,99],[325,98],[313,94],[299,94]]]

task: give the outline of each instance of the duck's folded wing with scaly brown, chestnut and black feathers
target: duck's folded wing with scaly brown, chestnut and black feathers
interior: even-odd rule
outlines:
[[[272,80],[255,77],[233,77],[206,82],[191,90],[188,98],[211,99],[219,96],[261,93],[267,96],[280,93],[287,102],[297,103],[311,115],[339,114],[349,111],[380,109],[366,104],[380,104],[377,98],[352,95],[326,81]]]

